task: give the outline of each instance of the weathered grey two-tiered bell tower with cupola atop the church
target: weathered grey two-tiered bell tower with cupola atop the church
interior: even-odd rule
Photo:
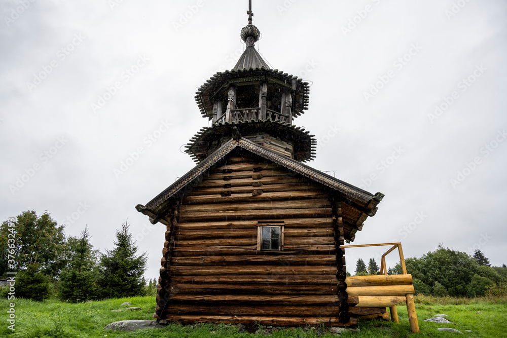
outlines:
[[[202,162],[240,135],[296,161],[311,160],[315,135],[293,125],[308,108],[308,83],[268,65],[255,49],[261,33],[252,24],[251,11],[248,14],[248,25],[241,30],[246,48],[238,62],[232,70],[214,74],[196,92],[201,114],[212,125],[190,140],[186,152]]]

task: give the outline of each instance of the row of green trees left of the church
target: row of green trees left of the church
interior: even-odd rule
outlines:
[[[87,226],[78,237],[66,237],[49,213],[25,211],[14,226],[6,221],[0,227],[0,252],[11,255],[0,257],[0,277],[17,272],[15,296],[38,301],[51,295],[74,303],[154,295],[155,279],[147,285],[143,277],[148,255],[137,254],[129,227],[124,222],[116,231],[114,248],[100,252],[93,249]],[[8,240],[9,234],[14,241]]]

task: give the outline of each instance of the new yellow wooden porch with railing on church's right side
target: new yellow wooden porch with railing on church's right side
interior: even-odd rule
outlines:
[[[351,291],[351,294],[354,295],[362,295],[365,296],[375,296],[376,303],[375,304],[363,304],[361,305],[361,301],[359,301],[359,304],[357,306],[378,306],[378,307],[389,307],[389,312],[391,313],[391,320],[394,323],[398,322],[398,313],[396,311],[396,304],[399,304],[403,301],[407,302],[407,312],[409,315],[409,322],[410,322],[410,329],[412,332],[416,333],[419,332],[419,323],[417,322],[417,314],[415,312],[415,303],[414,303],[414,286],[412,284],[412,276],[407,274],[407,268],[405,266],[405,258],[403,256],[403,249],[402,249],[402,243],[380,243],[380,244],[359,244],[359,245],[341,245],[341,248],[359,248],[359,247],[372,247],[372,246],[386,246],[386,245],[392,245],[392,247],[387,250],[382,255],[382,261],[380,264],[380,275],[385,276],[385,278],[382,278],[379,280],[379,276],[360,276],[360,277],[347,277],[349,279],[349,282],[352,279],[361,279],[365,280],[365,282],[368,283],[368,289],[354,289],[353,286],[349,285],[349,282],[347,282],[347,279],[345,282],[347,283],[347,289],[346,291]],[[385,265],[385,256],[388,255],[390,252],[392,252],[395,249],[398,249],[398,253],[400,255],[400,265],[402,267],[402,273],[403,275],[387,275],[386,265]],[[392,277],[402,277],[402,276],[409,276],[410,281],[407,279],[403,283],[400,283],[399,281],[396,282],[396,278],[388,278],[389,276]],[[384,280],[385,279],[385,280]],[[410,282],[410,283],[409,283]],[[407,285],[410,287],[407,288]],[[351,288],[349,289],[349,286]],[[375,294],[370,294],[371,292]],[[390,298],[383,298],[387,295],[390,296],[396,296],[396,295],[402,295],[405,294],[405,297],[395,299],[393,297]]]

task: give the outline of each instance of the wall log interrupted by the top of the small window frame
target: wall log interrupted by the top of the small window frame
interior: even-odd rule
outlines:
[[[260,221],[270,221],[269,219],[250,219],[250,220],[225,220],[225,221],[202,221],[181,222],[176,226],[175,231],[180,230],[207,230],[207,229],[256,229]],[[308,217],[308,218],[282,218],[276,221],[283,222],[286,228],[307,229],[307,228],[332,228],[333,219],[331,217]]]

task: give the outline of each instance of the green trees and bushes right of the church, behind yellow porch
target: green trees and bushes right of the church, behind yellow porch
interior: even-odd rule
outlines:
[[[434,251],[420,258],[405,259],[407,273],[412,275],[416,294],[433,296],[505,296],[507,295],[507,266],[491,267],[481,250],[474,255],[444,248],[439,244]],[[359,258],[355,275],[378,275],[379,267],[370,258],[368,267]],[[389,268],[387,274],[401,275],[400,263]]]

